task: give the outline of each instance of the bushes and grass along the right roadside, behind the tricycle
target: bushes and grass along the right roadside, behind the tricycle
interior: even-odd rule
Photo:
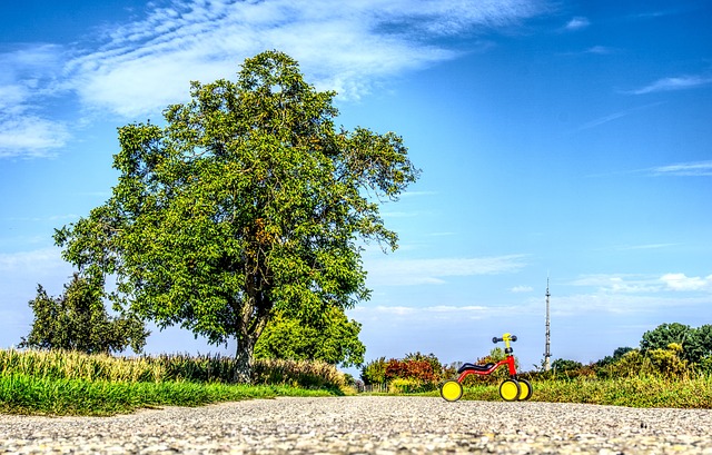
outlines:
[[[502,358],[504,352],[495,348],[477,363]],[[389,360],[382,357],[363,367],[358,386],[364,390],[438,396],[439,384],[456,377],[458,366],[441,365],[432,354]],[[518,365],[517,372],[523,372]],[[490,376],[467,376],[463,399],[501,400],[497,387],[506,374],[505,368],[498,368]],[[532,400],[709,409],[712,326],[663,324],[643,335],[640,348],[617,348],[589,365],[556,359],[548,372],[538,366],[520,376],[532,383]]]

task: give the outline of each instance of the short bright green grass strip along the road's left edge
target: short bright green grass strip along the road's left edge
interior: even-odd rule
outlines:
[[[128,383],[0,376],[0,413],[107,416],[160,406],[200,406],[277,396],[330,396],[329,390],[289,386]]]

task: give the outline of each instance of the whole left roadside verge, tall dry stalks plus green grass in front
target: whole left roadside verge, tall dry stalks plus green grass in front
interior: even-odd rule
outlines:
[[[221,356],[113,357],[66,350],[0,350],[0,413],[112,415],[160,406],[349,393],[333,365],[256,360],[251,384],[231,382]]]

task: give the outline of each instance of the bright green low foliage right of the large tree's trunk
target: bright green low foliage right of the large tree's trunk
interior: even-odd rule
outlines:
[[[358,339],[360,324],[339,308],[330,308],[318,324],[274,316],[255,345],[255,358],[323,360],[344,367],[364,363],[366,347]]]

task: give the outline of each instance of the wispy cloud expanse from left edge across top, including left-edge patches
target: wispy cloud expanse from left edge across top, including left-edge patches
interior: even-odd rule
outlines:
[[[545,0],[147,4],[141,19],[107,26],[71,51],[40,44],[0,53],[0,158],[51,155],[70,139],[69,123],[41,112],[43,97],[78,100],[81,115],[158,117],[187,99],[190,80],[234,78],[246,57],[279,49],[318,89],[358,98],[388,78],[456,58],[461,51],[439,38],[496,31],[546,10]]]

